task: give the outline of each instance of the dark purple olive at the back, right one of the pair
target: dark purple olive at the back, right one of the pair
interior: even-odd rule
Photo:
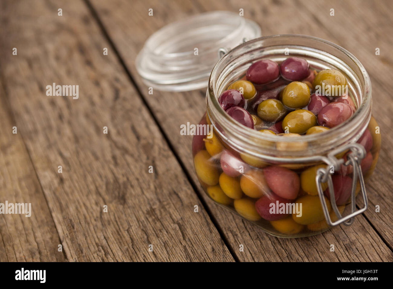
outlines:
[[[281,76],[291,81],[301,81],[309,75],[309,63],[299,57],[288,57],[280,65]]]

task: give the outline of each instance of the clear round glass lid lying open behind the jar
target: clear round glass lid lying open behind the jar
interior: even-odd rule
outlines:
[[[158,90],[204,88],[220,53],[260,36],[258,24],[238,13],[198,14],[153,33],[136,57],[136,69],[146,85]]]

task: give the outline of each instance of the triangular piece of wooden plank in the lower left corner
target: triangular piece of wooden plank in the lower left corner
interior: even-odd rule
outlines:
[[[9,53],[11,54],[11,53]],[[6,103],[0,83],[0,202],[31,204],[26,214],[0,215],[0,261],[65,261],[59,234],[35,169]],[[8,212],[8,208],[7,212]]]

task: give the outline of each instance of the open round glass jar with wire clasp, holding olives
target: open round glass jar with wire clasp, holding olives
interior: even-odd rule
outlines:
[[[222,109],[217,98],[252,63],[281,63],[288,52],[317,71],[334,68],[345,75],[356,106],[351,118],[327,132],[288,138],[258,133]],[[367,209],[364,179],[374,171],[381,140],[371,116],[369,76],[340,46],[303,35],[241,44],[213,68],[206,107],[199,124],[209,125],[213,133],[194,136],[193,158],[200,184],[218,204],[278,237],[311,236],[340,223],[351,225]],[[364,207],[356,210],[359,192]]]

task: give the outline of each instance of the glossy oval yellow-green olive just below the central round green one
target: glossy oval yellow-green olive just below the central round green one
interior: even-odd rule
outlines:
[[[317,117],[310,110],[298,109],[288,113],[283,120],[283,130],[286,127],[290,133],[305,133],[317,124]]]

